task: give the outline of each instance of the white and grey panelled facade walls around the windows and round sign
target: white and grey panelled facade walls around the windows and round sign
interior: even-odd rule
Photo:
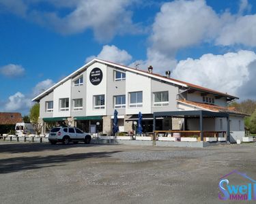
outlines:
[[[99,80],[98,84],[94,84],[91,81],[91,73],[96,68],[100,69],[101,72],[100,80],[96,79]],[[122,78],[124,79],[116,80],[116,72],[122,72]],[[79,85],[74,84],[78,78],[83,78],[83,83]],[[142,103],[139,105],[131,105],[130,96],[131,93],[134,92],[142,92]],[[159,94],[163,92],[165,92],[165,99]],[[158,95],[157,99],[160,100],[160,102],[156,101],[156,95]],[[96,107],[97,96],[104,96],[104,100],[100,97],[101,102],[104,103],[100,108]],[[125,96],[125,104],[123,104],[123,101],[122,107],[115,107],[115,99],[118,96]],[[77,120],[74,118],[79,117],[83,118],[83,120],[87,120],[86,117],[100,116],[103,123],[103,133],[110,134],[111,121],[113,120],[111,117],[113,117],[115,109],[119,112],[119,126],[121,131],[130,131],[132,123],[126,122],[126,119],[130,118],[132,115],[137,115],[139,112],[142,114],[154,114],[154,112],[201,109],[211,111],[210,109],[197,107],[196,105],[180,103],[179,100],[177,100],[182,98],[184,101],[205,103],[205,98],[203,97],[211,99],[212,101],[210,101],[210,104],[221,107],[227,107],[228,99],[236,98],[203,87],[201,89],[199,86],[193,87],[191,84],[186,84],[186,82],[175,81],[171,78],[154,75],[146,71],[131,69],[106,61],[93,60],[43,92],[41,95],[38,95],[38,97],[35,97],[33,101],[40,102],[40,118],[42,120],[61,117],[63,117],[63,119],[60,120],[68,118],[72,121]],[[60,108],[61,99],[68,99],[69,107],[64,111]],[[80,99],[83,103],[83,107],[74,109],[74,99]],[[47,112],[46,110],[46,103],[48,103],[48,101],[53,101],[53,112]],[[122,117],[120,118],[120,116]],[[220,119],[221,118],[204,119],[203,131],[227,131],[226,118],[223,118],[222,124],[220,123]],[[100,118],[97,120],[100,120]],[[243,117],[232,116],[230,117],[230,121],[231,136],[233,139],[240,138],[241,135],[243,136]],[[237,123],[239,123],[239,129],[237,129]],[[198,124],[198,119],[190,119],[187,121],[187,128],[189,130],[198,130]],[[91,125],[91,123],[85,125]],[[146,125],[150,126],[152,124],[147,123]],[[158,122],[158,126],[159,125]],[[162,120],[162,125],[160,126],[162,126],[162,130],[181,127],[180,124],[170,124],[170,121],[167,121],[167,119]]]

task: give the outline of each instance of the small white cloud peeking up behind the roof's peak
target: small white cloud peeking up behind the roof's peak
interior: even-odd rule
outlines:
[[[132,60],[132,56],[126,52],[126,50],[120,50],[116,46],[103,46],[100,54],[97,56],[89,56],[86,58],[85,62],[91,61],[93,58],[100,58],[106,61],[111,61],[113,63],[118,63],[121,65],[127,65]]]

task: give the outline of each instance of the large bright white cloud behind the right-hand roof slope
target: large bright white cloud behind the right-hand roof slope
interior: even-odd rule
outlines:
[[[255,52],[247,50],[223,55],[203,54],[199,59],[188,58],[180,61],[172,76],[192,84],[237,95],[240,86],[250,80],[249,66],[255,61]]]

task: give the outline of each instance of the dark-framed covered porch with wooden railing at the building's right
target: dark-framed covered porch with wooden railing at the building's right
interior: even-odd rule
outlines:
[[[156,118],[183,118],[182,129],[169,129],[169,131],[156,131]],[[212,119],[211,119],[212,118]],[[209,125],[211,120],[214,121],[214,118],[225,118],[227,122],[226,130],[227,131],[216,131],[215,125]],[[195,120],[198,122],[195,123],[196,129],[188,129],[186,125],[188,120]],[[208,126],[208,130],[205,131],[204,127]],[[209,129],[210,126],[210,129]],[[179,134],[181,137],[196,137],[197,141],[204,141],[206,137],[218,137],[225,138],[225,141],[230,141],[229,137],[229,114],[225,112],[210,112],[205,110],[193,110],[193,111],[175,111],[175,112],[154,112],[153,114],[153,131],[154,137],[157,139],[159,135],[173,137],[175,134]]]

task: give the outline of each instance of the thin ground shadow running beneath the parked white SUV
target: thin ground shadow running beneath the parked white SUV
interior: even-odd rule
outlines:
[[[0,154],[1,153],[26,153],[26,152],[41,152],[46,150],[65,150],[68,148],[76,148],[76,147],[85,147],[88,146],[102,146],[104,144],[85,144],[78,143],[73,144],[70,143],[68,145],[63,145],[62,143],[57,143],[56,145],[51,145],[50,143],[0,143]]]

